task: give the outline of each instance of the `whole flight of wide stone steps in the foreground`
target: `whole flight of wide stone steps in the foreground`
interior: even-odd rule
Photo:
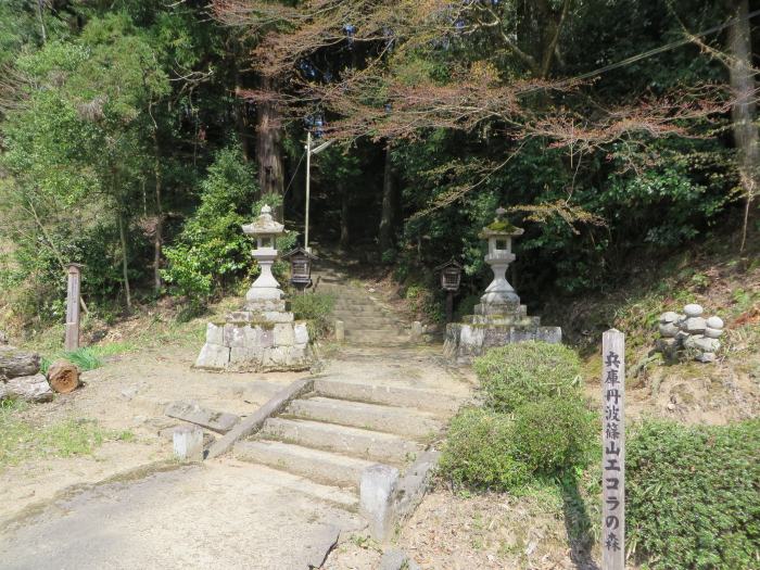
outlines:
[[[326,485],[331,496],[344,497],[342,508],[357,510],[365,469],[383,464],[398,469],[403,480],[464,400],[403,383],[316,378],[311,393],[236,443],[233,453]]]

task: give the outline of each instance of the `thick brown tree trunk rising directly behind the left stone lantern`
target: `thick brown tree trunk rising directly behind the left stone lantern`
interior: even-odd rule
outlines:
[[[271,77],[262,77],[261,85],[263,91],[276,92],[277,90],[277,81]],[[282,123],[277,105],[271,101],[259,102],[256,125],[256,160],[258,162],[258,187],[262,194],[282,195],[284,175],[281,140]]]

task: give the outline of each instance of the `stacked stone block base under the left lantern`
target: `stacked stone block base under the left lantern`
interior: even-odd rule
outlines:
[[[210,322],[206,343],[195,360],[195,368],[237,372],[306,370],[311,366],[306,324],[295,321],[282,301],[249,303],[243,311],[227,315],[226,322]]]

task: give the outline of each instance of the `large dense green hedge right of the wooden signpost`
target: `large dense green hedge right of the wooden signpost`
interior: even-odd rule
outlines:
[[[628,445],[629,545],[653,569],[750,569],[760,560],[760,420],[648,420]]]

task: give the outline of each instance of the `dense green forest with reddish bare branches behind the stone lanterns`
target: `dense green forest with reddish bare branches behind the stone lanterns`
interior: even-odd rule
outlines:
[[[5,0],[0,325],[61,321],[83,263],[105,320],[194,308],[255,267],[265,201],[428,291],[489,278],[480,229],[525,228],[532,303],[675,251],[757,240],[757,14],[747,0]],[[293,232],[283,248],[303,236]]]

